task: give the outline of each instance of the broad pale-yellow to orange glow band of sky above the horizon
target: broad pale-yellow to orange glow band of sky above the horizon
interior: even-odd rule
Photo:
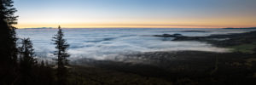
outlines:
[[[207,19],[166,19],[166,20],[20,20],[18,28],[53,27],[65,28],[225,28],[255,27],[254,18],[207,18]],[[56,23],[55,23],[56,22]],[[82,22],[82,23],[81,23]]]

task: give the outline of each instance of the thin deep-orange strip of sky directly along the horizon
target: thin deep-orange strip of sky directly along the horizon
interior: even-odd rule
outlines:
[[[254,26],[204,26],[204,25],[171,25],[171,24],[18,24],[17,28],[38,28],[38,27],[53,27],[61,26],[64,28],[242,28]]]

